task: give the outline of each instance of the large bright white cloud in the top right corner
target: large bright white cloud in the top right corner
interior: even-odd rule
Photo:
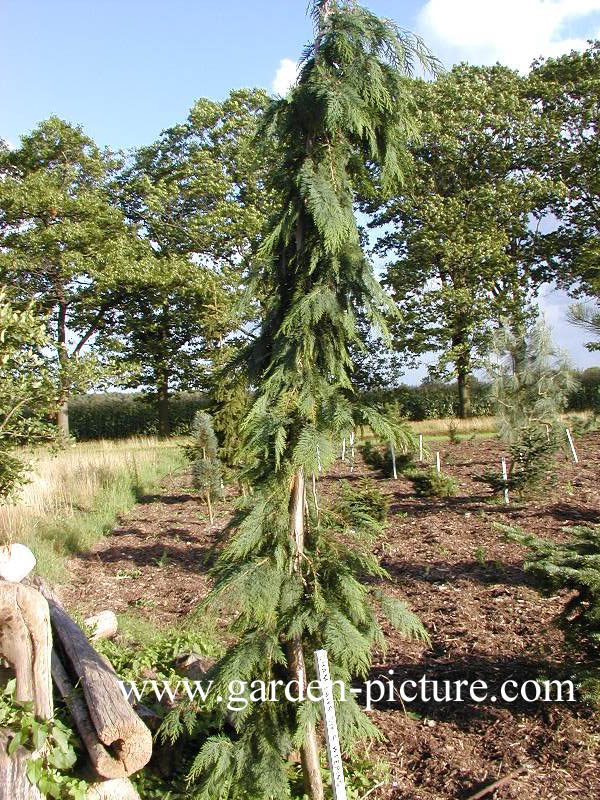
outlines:
[[[600,12],[600,0],[427,0],[419,27],[445,59],[500,61],[526,71],[539,56],[582,49],[598,36],[591,25],[582,38],[564,33],[565,25],[593,12]]]

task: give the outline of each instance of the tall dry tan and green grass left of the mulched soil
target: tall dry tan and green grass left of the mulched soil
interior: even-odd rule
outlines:
[[[0,506],[0,541],[19,541],[39,574],[66,576],[69,555],[88,549],[120,514],[183,465],[179,440],[136,437],[27,453],[32,470],[17,502]]]

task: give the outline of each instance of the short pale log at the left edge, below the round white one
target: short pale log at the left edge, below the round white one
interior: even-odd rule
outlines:
[[[14,671],[16,699],[33,702],[42,719],[53,714],[48,603],[29,586],[0,581],[0,656]]]

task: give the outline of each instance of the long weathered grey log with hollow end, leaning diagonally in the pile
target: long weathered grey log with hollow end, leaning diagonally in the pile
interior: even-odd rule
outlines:
[[[152,734],[125,699],[119,676],[94,650],[44,581],[36,585],[48,600],[50,619],[60,647],[57,653],[72,682],[81,686],[89,718],[100,743],[122,765],[127,777],[146,766],[152,755]]]

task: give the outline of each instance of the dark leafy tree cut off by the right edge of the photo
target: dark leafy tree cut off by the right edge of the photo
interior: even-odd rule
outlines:
[[[529,92],[540,111],[538,169],[566,186],[549,259],[559,284],[600,297],[600,42],[534,65]]]

